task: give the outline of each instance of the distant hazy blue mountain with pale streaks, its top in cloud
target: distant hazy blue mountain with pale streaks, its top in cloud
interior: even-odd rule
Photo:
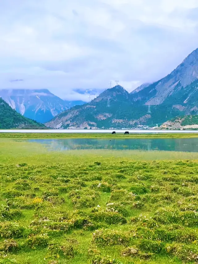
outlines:
[[[64,110],[67,103],[47,89],[3,89],[0,97],[21,115],[45,123]]]

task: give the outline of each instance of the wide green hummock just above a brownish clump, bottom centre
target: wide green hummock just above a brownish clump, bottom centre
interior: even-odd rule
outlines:
[[[100,229],[93,233],[93,242],[97,245],[127,245],[130,241],[130,236],[126,232]]]

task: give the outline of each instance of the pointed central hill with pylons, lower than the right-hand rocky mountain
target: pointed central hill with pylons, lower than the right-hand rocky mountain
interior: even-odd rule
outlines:
[[[142,107],[142,110],[146,109],[146,106]],[[132,119],[137,113],[131,107],[130,94],[117,85],[87,104],[60,113],[45,125],[51,128],[131,127],[149,118],[149,115],[143,116],[142,113],[139,115],[140,120]]]

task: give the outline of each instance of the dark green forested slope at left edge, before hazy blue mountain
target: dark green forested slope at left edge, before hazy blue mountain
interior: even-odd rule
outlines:
[[[0,129],[10,128],[45,128],[45,126],[20,115],[0,98]]]

